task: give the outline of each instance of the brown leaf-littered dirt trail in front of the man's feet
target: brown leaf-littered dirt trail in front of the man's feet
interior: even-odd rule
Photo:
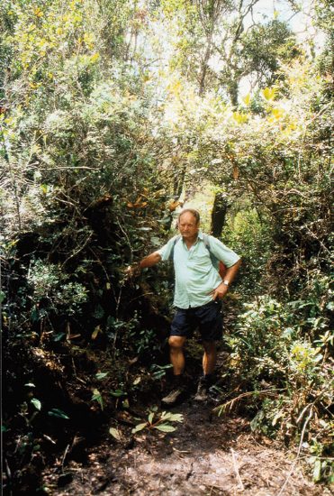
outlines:
[[[294,464],[295,453],[284,452],[273,441],[256,440],[245,418],[218,418],[212,405],[193,400],[170,411],[182,413],[185,421],[167,434],[143,430],[132,436],[128,420],[119,418],[124,441],[105,436],[88,450],[86,464],[70,456],[65,462],[59,459],[44,473],[49,492],[57,496],[332,494],[311,482],[305,465]]]

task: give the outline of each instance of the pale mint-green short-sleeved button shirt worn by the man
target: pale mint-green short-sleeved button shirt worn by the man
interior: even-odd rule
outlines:
[[[237,253],[221,243],[213,236],[208,236],[210,251],[224,263],[228,269],[239,261]],[[166,262],[172,252],[176,236],[171,238],[165,246],[158,250],[161,260]],[[210,253],[203,242],[203,233],[199,232],[196,243],[187,249],[181,237],[174,248],[174,267],[176,273],[176,288],[174,305],[177,308],[194,308],[205,305],[212,300],[208,296],[212,289],[221,284],[221,276],[213,267]]]

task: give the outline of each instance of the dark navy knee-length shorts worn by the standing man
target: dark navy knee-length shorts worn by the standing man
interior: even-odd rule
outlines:
[[[195,308],[177,308],[170,335],[192,337],[198,327],[203,341],[219,341],[222,334],[221,302]]]

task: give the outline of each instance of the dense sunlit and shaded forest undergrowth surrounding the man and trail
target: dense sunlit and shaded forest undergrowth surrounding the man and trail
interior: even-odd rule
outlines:
[[[320,56],[282,39],[273,72],[253,60],[266,70],[238,105],[249,33],[224,23],[233,87],[181,57],[182,47],[202,53],[203,40],[214,50],[199,22],[212,26],[210,8],[40,4],[0,7],[5,491],[41,490],[42,466],[69,448],[84,462],[80,443],[165,391],[171,267],[135,279],[124,270],[174,234],[185,201],[203,210],[196,192],[208,182],[221,196],[221,240],[243,261],[226,301],[216,411],[239,408],[333,484],[330,2],[314,13],[327,39]],[[167,36],[173,19],[183,43]],[[194,377],[199,346],[187,353]]]

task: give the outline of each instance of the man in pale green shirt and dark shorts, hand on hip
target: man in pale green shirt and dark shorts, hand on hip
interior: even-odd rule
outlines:
[[[180,239],[176,236],[165,246],[150,253],[132,269],[139,271],[152,267],[160,261],[167,261],[173,253],[176,273],[174,305],[176,315],[172,322],[168,344],[170,361],[173,365],[173,389],[162,401],[175,404],[184,393],[183,373],[185,340],[192,337],[198,326],[203,339],[203,377],[198,384],[194,400],[207,400],[212,386],[212,375],[217,359],[216,342],[221,339],[221,300],[224,298],[231,280],[239,270],[239,256],[212,236],[208,236],[210,249],[205,245],[200,230],[200,215],[186,208],[178,216]],[[212,254],[224,263],[227,271],[224,280],[213,267]]]

